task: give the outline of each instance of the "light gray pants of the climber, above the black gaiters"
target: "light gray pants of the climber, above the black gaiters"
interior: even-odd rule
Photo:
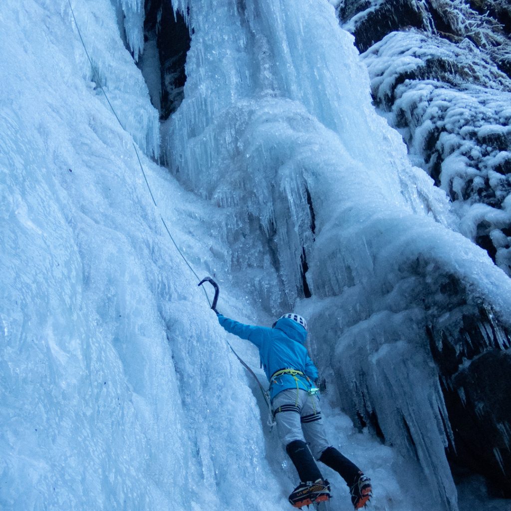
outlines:
[[[286,447],[293,440],[303,440],[315,459],[330,447],[324,432],[318,394],[307,390],[288,388],[271,401],[271,410],[277,423],[277,434]]]

